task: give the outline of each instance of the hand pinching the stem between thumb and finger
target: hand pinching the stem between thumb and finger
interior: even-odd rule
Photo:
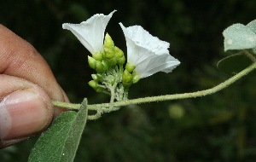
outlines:
[[[30,43],[0,25],[0,148],[48,127],[68,101],[44,58]]]

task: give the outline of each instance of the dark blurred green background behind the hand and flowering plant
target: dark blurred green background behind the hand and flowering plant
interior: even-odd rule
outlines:
[[[34,0],[1,1],[0,23],[38,49],[72,102],[108,101],[88,86],[87,49],[67,30],[97,13],[113,14],[108,32],[124,51],[118,25],[140,25],[171,43],[181,61],[131,87],[130,97],[205,90],[229,78],[216,64],[225,55],[222,32],[256,18],[254,0]],[[124,107],[89,121],[75,161],[255,161],[255,78],[242,78],[215,95]],[[38,137],[0,150],[0,161],[27,161]]]

